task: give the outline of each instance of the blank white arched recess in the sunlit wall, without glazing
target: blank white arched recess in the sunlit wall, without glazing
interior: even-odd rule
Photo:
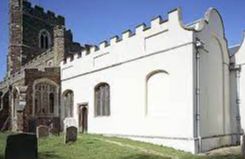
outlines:
[[[146,114],[163,116],[170,106],[169,74],[156,70],[146,77]]]

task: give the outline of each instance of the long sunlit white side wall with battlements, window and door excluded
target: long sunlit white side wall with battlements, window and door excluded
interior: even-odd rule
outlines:
[[[167,22],[156,18],[150,29],[143,31],[139,26],[136,35],[129,37],[125,32],[122,41],[112,38],[110,46],[102,43],[98,51],[61,65],[62,92],[74,92],[75,119],[77,104],[88,103],[89,133],[127,136],[195,152],[193,32],[184,30],[179,20],[178,10],[173,11]],[[167,74],[153,76],[147,84],[147,77],[157,70]],[[101,82],[110,85],[109,117],[94,116],[94,87]],[[147,86],[148,93],[163,93],[164,98],[154,101],[149,96],[150,114]]]

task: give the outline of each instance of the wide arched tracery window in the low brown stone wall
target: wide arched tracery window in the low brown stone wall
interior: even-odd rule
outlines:
[[[34,85],[35,115],[54,114],[57,105],[57,86],[48,81]]]

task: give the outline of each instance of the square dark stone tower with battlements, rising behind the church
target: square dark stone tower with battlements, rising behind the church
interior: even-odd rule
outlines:
[[[45,13],[39,6],[32,8],[26,0],[10,0],[9,6],[8,72],[13,74],[54,45],[54,28],[64,26],[65,20],[62,16],[55,17],[51,11]]]

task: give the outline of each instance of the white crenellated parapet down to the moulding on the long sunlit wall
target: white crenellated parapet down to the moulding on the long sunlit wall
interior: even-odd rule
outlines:
[[[189,27],[182,23],[180,9],[170,11],[167,19],[157,16],[150,25],[139,24],[132,30],[125,30],[121,35],[65,58],[60,63],[62,80],[123,67],[133,61],[169,54],[180,48],[192,50],[193,25]]]

